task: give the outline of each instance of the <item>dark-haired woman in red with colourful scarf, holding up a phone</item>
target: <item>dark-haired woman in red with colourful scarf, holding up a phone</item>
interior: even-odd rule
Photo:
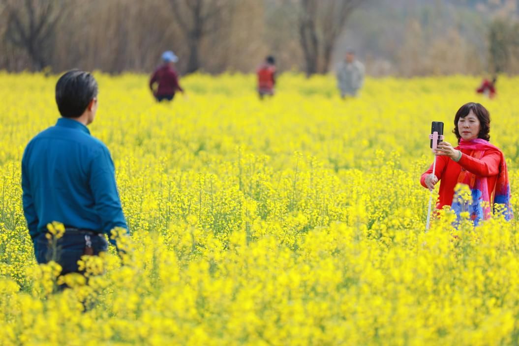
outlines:
[[[490,115],[485,107],[473,102],[461,106],[453,130],[459,145],[453,148],[450,143],[441,142],[435,152],[435,174],[431,165],[420,179],[421,185],[430,190],[441,181],[436,208],[450,205],[458,217],[461,212],[469,212],[476,225],[492,215],[496,204],[503,205],[507,220],[513,217],[507,164],[501,150],[488,142],[489,131]],[[454,196],[458,183],[469,186],[472,201]]]

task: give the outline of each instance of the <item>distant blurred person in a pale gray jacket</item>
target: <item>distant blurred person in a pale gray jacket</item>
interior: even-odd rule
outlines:
[[[364,65],[355,59],[352,49],[346,51],[346,58],[337,66],[337,86],[340,96],[356,96],[364,84]]]

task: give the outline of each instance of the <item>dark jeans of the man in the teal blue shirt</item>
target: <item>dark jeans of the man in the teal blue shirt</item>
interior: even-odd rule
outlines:
[[[90,235],[93,254],[99,255],[100,252],[108,250],[108,242],[103,234]],[[52,249],[49,248],[49,241],[45,238],[45,233],[40,233],[33,239],[34,254],[39,264],[47,263],[52,260]],[[57,253],[54,260],[61,266],[61,275],[67,273],[78,273],[77,261],[84,255],[86,247],[85,234],[65,234],[57,241]]]

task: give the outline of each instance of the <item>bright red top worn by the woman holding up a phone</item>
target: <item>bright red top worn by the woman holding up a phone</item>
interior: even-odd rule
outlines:
[[[455,149],[458,149],[456,147]],[[501,153],[499,150],[486,150],[483,157],[476,159],[471,157],[470,150],[461,150],[461,159],[458,162],[451,160],[447,156],[436,157],[436,170],[434,175],[440,183],[439,199],[436,208],[442,209],[444,205],[451,205],[454,198],[454,188],[458,184],[458,176],[461,169],[465,169],[472,174],[486,176],[488,183],[488,192],[492,193],[490,199],[494,202],[494,187],[496,186],[497,175],[499,173],[499,164],[501,162]],[[425,178],[432,173],[432,164],[429,169],[421,175],[420,184],[424,187]]]

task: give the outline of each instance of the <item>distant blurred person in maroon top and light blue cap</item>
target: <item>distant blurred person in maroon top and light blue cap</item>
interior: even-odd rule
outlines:
[[[168,50],[162,53],[162,61],[164,63],[157,67],[149,80],[149,89],[152,90],[158,102],[173,100],[177,90],[184,92],[184,89],[180,87],[179,77],[174,69],[174,63],[179,61],[179,58],[171,50]],[[155,84],[158,85],[157,89],[155,89]]]

